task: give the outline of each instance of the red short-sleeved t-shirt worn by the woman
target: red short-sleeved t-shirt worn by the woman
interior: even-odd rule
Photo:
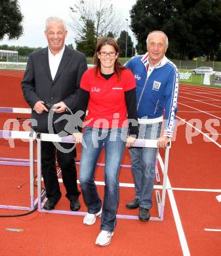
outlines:
[[[113,74],[106,80],[95,68],[87,70],[81,78],[80,87],[89,91],[89,114],[87,125],[96,128],[127,127],[125,91],[136,87],[134,75],[126,68],[121,70],[121,79]]]

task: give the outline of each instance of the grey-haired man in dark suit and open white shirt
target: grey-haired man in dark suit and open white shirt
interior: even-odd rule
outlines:
[[[64,20],[57,17],[48,18],[45,37],[49,47],[31,53],[28,59],[22,91],[33,110],[31,118],[37,121],[37,125],[32,123],[32,128],[39,133],[64,133],[67,121],[54,121],[62,119],[64,114],[71,114],[78,104],[77,90],[81,76],[87,70],[87,61],[83,53],[71,50],[64,44],[67,33]],[[50,112],[47,103],[52,105]],[[49,129],[49,123],[52,123],[53,131]],[[48,198],[43,208],[54,209],[61,197],[56,174],[57,158],[62,169],[62,179],[67,192],[66,197],[70,200],[70,208],[77,211],[80,208],[80,192],[77,189],[74,160],[76,152],[75,149],[71,150],[73,144],[61,143],[60,146],[62,150],[56,149],[52,142],[41,144],[41,171]]]

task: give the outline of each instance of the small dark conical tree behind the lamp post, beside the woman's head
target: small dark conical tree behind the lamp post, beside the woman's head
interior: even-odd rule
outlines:
[[[126,56],[126,37],[127,37],[127,57],[132,57],[135,53],[135,49],[133,47],[131,36],[128,35],[125,30],[121,31],[121,34],[117,39],[117,43],[120,48],[119,54],[120,54],[120,57]]]

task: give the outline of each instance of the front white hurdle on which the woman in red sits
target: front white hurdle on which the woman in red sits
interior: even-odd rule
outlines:
[[[59,137],[56,134],[48,134],[48,133],[37,133],[36,134],[37,140],[37,197],[38,197],[38,211],[43,213],[55,213],[55,214],[67,214],[67,215],[78,215],[84,216],[87,213],[83,211],[68,211],[68,210],[45,210],[42,208],[43,198],[41,195],[41,142],[42,141],[50,141],[50,142],[64,142],[64,143],[74,143],[73,136],[69,135],[66,137]],[[144,140],[138,139],[134,143],[135,147],[149,147],[149,148],[157,148],[157,140]],[[157,186],[157,188],[162,189],[162,196],[160,195],[159,190],[155,191],[156,199],[157,199],[157,210],[158,216],[151,217],[150,221],[163,221],[164,216],[164,208],[165,208],[165,197],[166,197],[166,190],[167,190],[167,171],[168,171],[168,163],[169,163],[169,150],[171,148],[171,141],[169,145],[165,149],[165,164],[163,171],[163,186]],[[104,164],[99,164],[99,166],[104,166]],[[131,165],[127,165],[129,167]],[[120,186],[121,183],[120,183]],[[125,185],[123,185],[125,186]],[[138,219],[138,216],[133,215],[117,215],[118,219]]]

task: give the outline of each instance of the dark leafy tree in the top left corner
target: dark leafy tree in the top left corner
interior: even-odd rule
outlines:
[[[18,39],[22,35],[23,16],[18,0],[0,0],[0,40],[5,35]]]

